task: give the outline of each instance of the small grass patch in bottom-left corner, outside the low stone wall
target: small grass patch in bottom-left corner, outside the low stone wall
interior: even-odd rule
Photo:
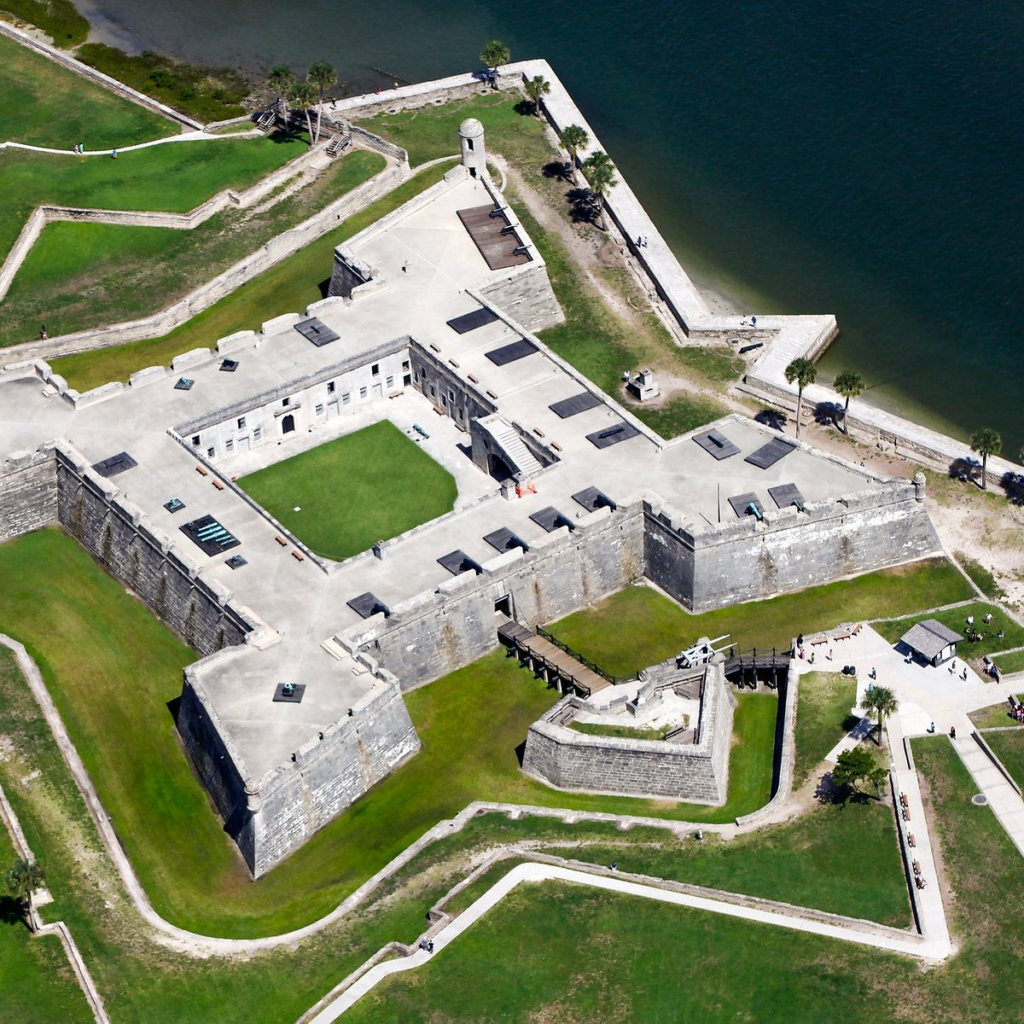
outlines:
[[[0,681],[13,671],[14,657],[0,648]],[[0,868],[14,865],[14,847],[0,825]],[[45,868],[45,865],[44,865]],[[55,935],[33,937],[17,901],[0,895],[0,1018],[25,1024],[92,1020],[75,972]],[[53,920],[52,918],[50,920]]]

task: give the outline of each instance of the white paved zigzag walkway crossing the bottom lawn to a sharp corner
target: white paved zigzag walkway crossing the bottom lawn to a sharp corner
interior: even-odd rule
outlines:
[[[426,964],[431,955],[436,956],[442,949],[454,942],[467,928],[479,921],[492,907],[504,899],[516,886],[523,882],[562,882],[591,886],[606,892],[623,893],[627,896],[639,896],[644,899],[658,900],[675,906],[686,906],[708,913],[721,913],[730,918],[741,918],[763,925],[775,925],[790,928],[797,932],[807,932],[824,938],[839,939],[843,942],[855,942],[859,945],[872,946],[876,949],[887,949],[891,952],[903,953],[927,961],[942,961],[952,952],[949,935],[945,929],[943,918],[937,934],[928,938],[920,938],[910,933],[899,933],[894,929],[884,929],[881,926],[871,928],[866,923],[863,927],[854,928],[845,925],[831,925],[822,921],[782,914],[753,906],[742,906],[725,900],[710,899],[690,893],[673,892],[658,889],[655,886],[642,885],[638,882],[628,882],[625,879],[607,878],[601,874],[590,874],[571,867],[558,867],[553,864],[525,863],[517,864],[503,879],[496,882],[468,909],[459,914],[455,921],[445,925],[433,936],[433,954],[423,949],[410,956],[397,961],[387,961],[377,964],[366,974],[349,985],[334,1002],[313,1017],[309,1024],[329,1024],[337,1020],[346,1010],[385,978],[402,971],[412,971]],[[936,887],[937,889],[938,887]]]

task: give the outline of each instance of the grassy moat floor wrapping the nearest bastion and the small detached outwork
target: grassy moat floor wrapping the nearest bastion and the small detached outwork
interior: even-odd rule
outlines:
[[[273,934],[315,920],[473,800],[728,821],[770,795],[777,700],[760,693],[740,696],[724,807],[563,794],[528,778],[516,749],[556,694],[496,651],[409,693],[423,751],[253,884],[168,712],[194,655],[57,530],[0,546],[0,578],[10,581],[0,629],[39,660],[154,905],[207,934]]]

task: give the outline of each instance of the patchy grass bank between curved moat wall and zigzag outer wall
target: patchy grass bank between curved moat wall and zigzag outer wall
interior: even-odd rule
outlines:
[[[385,942],[413,941],[425,927],[426,908],[464,874],[469,854],[500,843],[522,839],[549,846],[582,842],[581,849],[573,848],[575,855],[597,863],[607,856],[602,847],[607,844],[615,856],[631,858],[633,870],[664,864],[669,877],[684,877],[688,863],[695,880],[712,880],[716,871],[723,870],[731,877],[733,868],[728,861],[738,859],[744,866],[735,869],[744,884],[754,886],[755,894],[766,883],[771,894],[771,880],[776,873],[784,874],[788,878],[787,898],[796,903],[813,904],[815,896],[821,895],[826,908],[835,905],[842,909],[844,900],[859,900],[865,913],[874,905],[874,889],[885,888],[877,886],[876,879],[891,871],[889,865],[877,863],[870,856],[869,851],[878,845],[873,839],[877,819],[870,818],[870,809],[859,807],[850,808],[852,813],[842,817],[815,812],[816,827],[798,822],[782,833],[758,834],[773,841],[761,859],[756,836],[742,841],[742,850],[719,848],[711,842],[696,848],[689,841],[666,842],[665,834],[657,829],[621,833],[603,822],[512,821],[504,815],[487,814],[417,855],[364,909],[298,948],[254,952],[244,961],[194,958],[154,943],[131,909],[52,736],[12,658],[4,651],[0,651],[0,719],[5,735],[0,780],[29,842],[46,865],[57,900],[46,909],[45,918],[69,924],[108,1012],[118,1022],[206,1024],[212,1019],[238,1021],[244,1017],[247,1024],[280,1024],[295,1020]],[[891,849],[891,836],[889,844]],[[791,847],[799,849],[800,859],[793,856]],[[819,878],[815,851],[826,848],[833,852],[826,869],[835,873]],[[745,856],[737,856],[741,852]],[[719,861],[720,855],[725,859]],[[673,861],[678,862],[673,865]],[[805,862],[807,868],[802,870]],[[862,869],[867,872],[863,877]],[[855,876],[854,892],[836,891]],[[840,884],[831,885],[835,880]],[[879,905],[887,904],[888,900],[880,897]],[[886,912],[897,913],[898,900]],[[52,971],[59,970],[60,965],[54,963]],[[181,983],[184,976],[187,984]],[[31,973],[19,975],[17,981],[20,984],[32,978]],[[28,986],[26,991],[29,996],[34,994]],[[46,1010],[48,997],[45,992],[36,997]],[[8,1005],[18,1006],[5,999],[5,1008]],[[28,1011],[24,1019],[40,1020]],[[41,1019],[78,1018],[57,1008]]]

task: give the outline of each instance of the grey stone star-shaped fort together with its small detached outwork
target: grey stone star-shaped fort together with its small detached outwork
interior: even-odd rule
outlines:
[[[665,440],[548,349],[536,332],[562,313],[544,260],[479,124],[461,135],[462,165],[339,248],[305,315],[87,393],[41,361],[0,377],[0,541],[60,524],[199,652],[177,727],[254,877],[415,756],[402,691],[504,625],[644,581],[702,611],[940,548],[923,478],[739,416]],[[456,477],[453,512],[336,562],[234,483],[383,419]],[[689,745],[566,740],[584,705],[618,698],[562,679],[525,769],[724,800],[720,667],[645,679],[697,701]]]

